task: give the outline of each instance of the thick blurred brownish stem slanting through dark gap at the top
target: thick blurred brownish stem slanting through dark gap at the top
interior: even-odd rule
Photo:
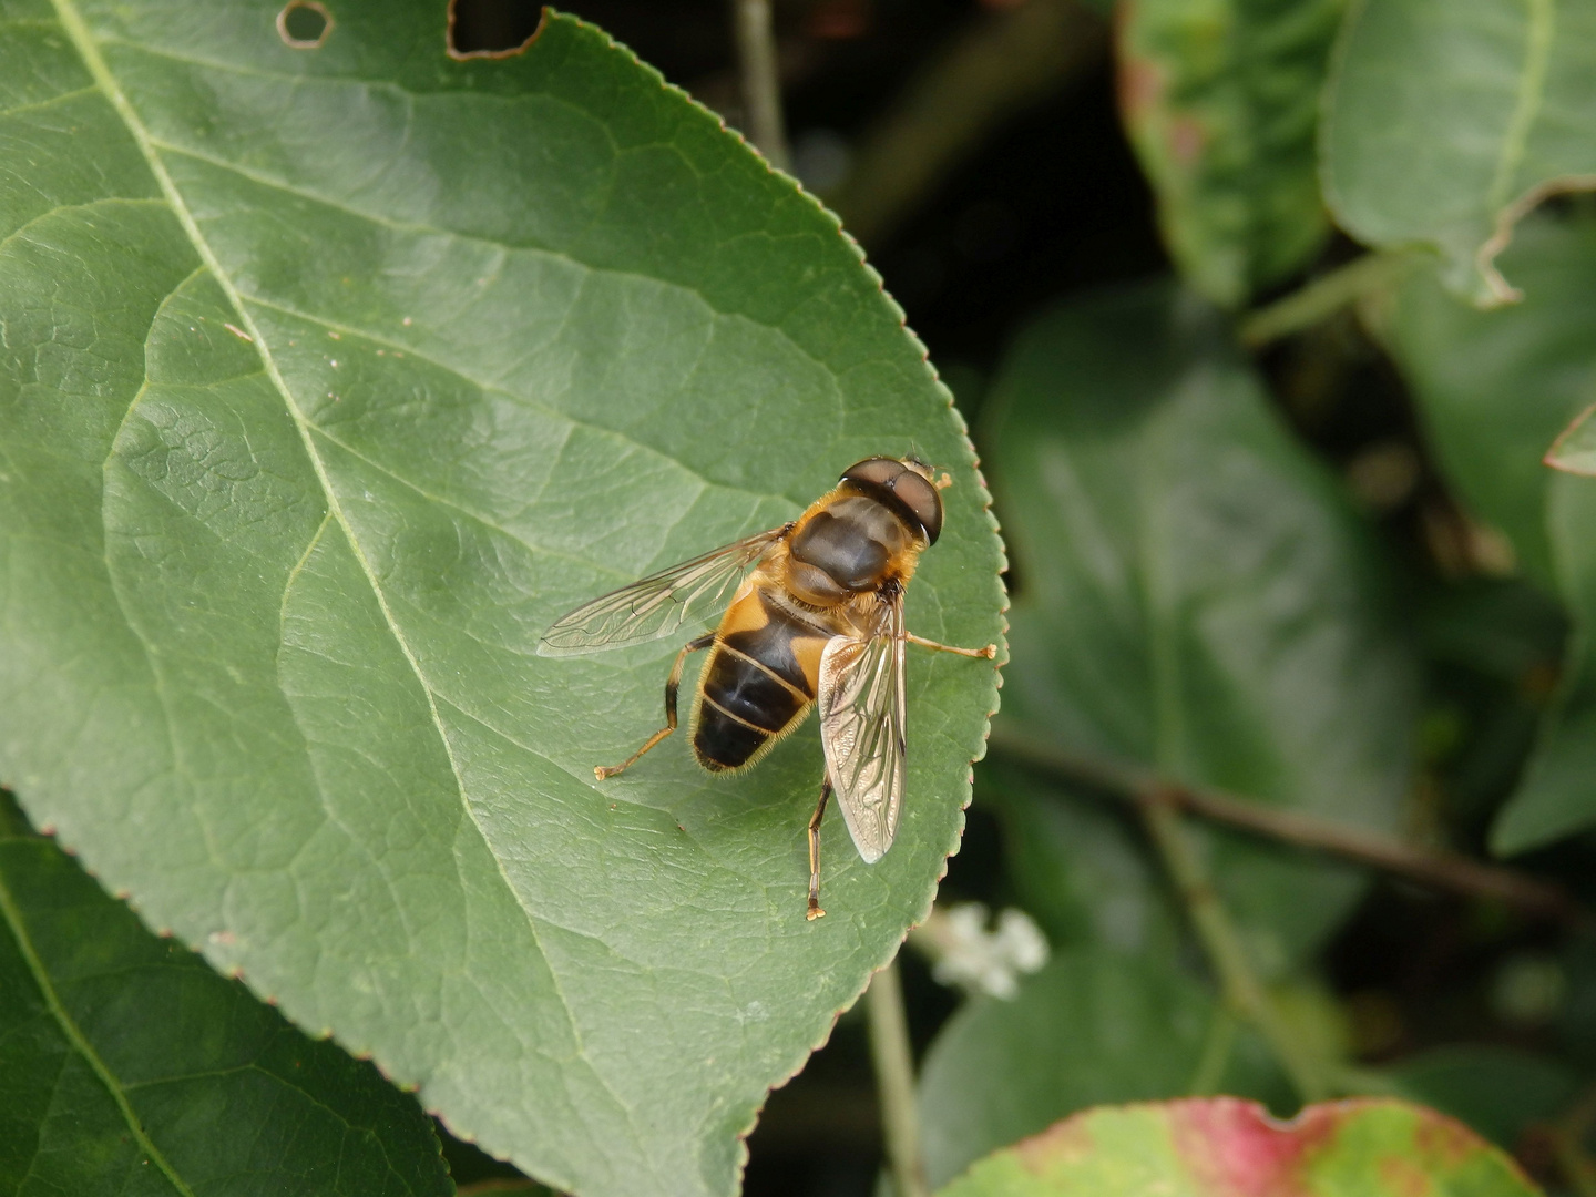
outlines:
[[[1025,0],[962,27],[865,131],[827,203],[867,246],[1015,112],[1106,59],[1108,26],[1077,0]]]

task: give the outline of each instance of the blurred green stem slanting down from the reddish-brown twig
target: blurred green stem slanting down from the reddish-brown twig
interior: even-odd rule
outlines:
[[[1253,972],[1246,946],[1242,943],[1235,924],[1231,922],[1231,911],[1219,902],[1218,892],[1208,881],[1208,870],[1192,847],[1178,806],[1167,795],[1151,793],[1138,801],[1138,809],[1148,835],[1152,836],[1152,844],[1163,859],[1163,867],[1186,905],[1192,929],[1219,978],[1226,1001],[1264,1036],[1304,1103],[1329,1096],[1318,1061],[1302,1049],[1302,1041],[1291,1034],[1291,1028],[1282,1021],[1280,1012],[1264,993],[1262,982]]]

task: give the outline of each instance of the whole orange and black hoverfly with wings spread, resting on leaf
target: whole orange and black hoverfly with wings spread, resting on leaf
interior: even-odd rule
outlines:
[[[903,806],[903,645],[991,659],[903,626],[903,587],[942,533],[946,474],[873,456],[790,523],[672,565],[559,619],[539,656],[576,656],[670,635],[707,614],[739,578],[720,627],[688,640],[666,678],[666,726],[598,780],[632,768],[677,729],[688,653],[710,650],[693,697],[693,755],[710,772],[745,769],[820,707],[825,780],[809,819],[809,913],[820,910],[820,820],[836,793],[865,863],[892,846]],[[752,567],[752,573],[749,571]],[[744,576],[747,575],[747,576]]]

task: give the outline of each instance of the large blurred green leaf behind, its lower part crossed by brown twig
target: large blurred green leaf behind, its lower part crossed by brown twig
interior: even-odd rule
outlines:
[[[1390,827],[1412,664],[1377,554],[1216,313],[1167,287],[1060,308],[990,402],[1020,579],[1002,734]],[[1205,839],[1269,974],[1357,897],[1345,867]]]

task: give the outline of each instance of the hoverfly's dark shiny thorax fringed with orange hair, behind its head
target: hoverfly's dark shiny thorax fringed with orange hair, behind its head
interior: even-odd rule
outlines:
[[[788,547],[787,584],[804,602],[835,606],[876,591],[910,547],[903,520],[873,498],[851,496],[811,516]]]

